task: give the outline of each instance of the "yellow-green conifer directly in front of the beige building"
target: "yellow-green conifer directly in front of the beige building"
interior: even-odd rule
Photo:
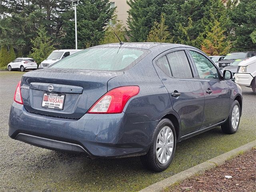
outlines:
[[[114,22],[114,26],[108,25],[105,32],[104,32],[104,37],[100,41],[100,44],[107,44],[107,43],[117,43],[119,42],[118,38],[116,35],[120,38],[121,41],[125,41],[126,38],[124,36],[125,34],[125,29],[122,21],[117,19],[117,15],[115,14],[114,17],[112,18],[112,21]],[[116,35],[114,34],[116,33]]]

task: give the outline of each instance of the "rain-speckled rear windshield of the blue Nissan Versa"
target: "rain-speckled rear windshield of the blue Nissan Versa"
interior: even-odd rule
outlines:
[[[94,47],[72,54],[51,67],[119,71],[135,65],[149,52],[138,48]]]

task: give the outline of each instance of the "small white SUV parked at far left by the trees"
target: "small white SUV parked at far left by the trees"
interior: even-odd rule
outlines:
[[[20,71],[23,72],[26,69],[36,70],[37,69],[37,64],[36,64],[35,60],[32,59],[32,58],[19,57],[19,58],[16,58],[14,61],[10,62],[7,65],[7,68],[8,68],[9,71],[20,70]]]

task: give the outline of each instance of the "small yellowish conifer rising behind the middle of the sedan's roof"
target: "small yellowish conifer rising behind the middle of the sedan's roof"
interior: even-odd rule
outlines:
[[[160,23],[154,22],[154,26],[148,34],[148,42],[168,42],[170,39],[170,33],[168,32],[168,26],[165,24],[164,15],[161,14]]]

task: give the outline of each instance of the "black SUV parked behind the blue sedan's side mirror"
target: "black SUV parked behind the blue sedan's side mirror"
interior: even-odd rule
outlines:
[[[254,51],[229,53],[222,61],[218,61],[216,64],[220,69],[222,69],[226,66],[230,66],[236,59],[246,59],[255,55],[256,52]]]

